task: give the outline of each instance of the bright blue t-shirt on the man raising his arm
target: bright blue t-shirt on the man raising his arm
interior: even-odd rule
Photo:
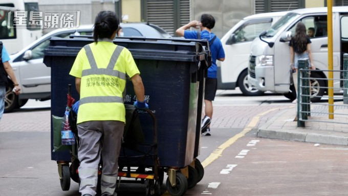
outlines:
[[[211,40],[215,36],[214,33],[209,33],[209,31],[204,30],[201,32],[201,39]],[[185,30],[184,37],[186,39],[198,39],[197,31]],[[208,78],[217,78],[217,65],[216,59],[225,58],[225,51],[222,47],[222,43],[218,37],[210,45],[211,60],[212,64],[208,68]]]

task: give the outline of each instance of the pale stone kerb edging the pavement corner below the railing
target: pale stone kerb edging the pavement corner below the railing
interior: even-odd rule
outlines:
[[[289,109],[290,110],[290,109]],[[257,130],[257,137],[269,139],[282,139],[312,143],[348,145],[348,137],[340,132],[325,132],[323,130],[311,130],[309,128],[289,129],[286,127],[270,128],[276,121],[284,120],[289,110],[282,110],[271,118],[266,124]],[[318,133],[319,132],[319,133]]]

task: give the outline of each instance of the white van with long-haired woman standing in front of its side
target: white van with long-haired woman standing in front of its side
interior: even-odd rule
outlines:
[[[343,53],[348,53],[348,7],[333,7],[333,69],[342,70]],[[327,8],[307,8],[289,12],[280,18],[267,32],[254,39],[251,44],[248,82],[262,91],[285,93],[289,99],[290,47],[289,35],[295,34],[296,23],[301,21],[306,28],[314,28],[311,38],[313,63],[318,70],[328,70]],[[328,72],[312,72],[312,95],[322,96],[327,87]],[[319,79],[318,79],[319,78]],[[340,79],[340,72],[334,72],[334,79]],[[334,91],[339,91],[340,82],[334,82]],[[320,97],[311,98],[312,102]]]

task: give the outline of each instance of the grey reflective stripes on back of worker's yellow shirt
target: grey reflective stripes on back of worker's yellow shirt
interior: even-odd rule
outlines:
[[[91,69],[82,70],[82,77],[90,76],[90,75],[106,75],[106,76],[118,77],[122,80],[126,80],[126,75],[124,73],[122,73],[118,70],[114,70],[117,59],[120,56],[124,47],[118,45],[115,48],[115,51],[113,52],[111,59],[110,59],[110,62],[108,63],[106,68],[98,68],[90,45],[85,45],[83,48],[86,52],[86,56],[87,56],[88,61],[90,63]],[[88,104],[88,103],[122,103],[123,104],[123,97],[120,97],[120,96],[87,96],[87,97],[82,97],[80,99],[80,105]]]

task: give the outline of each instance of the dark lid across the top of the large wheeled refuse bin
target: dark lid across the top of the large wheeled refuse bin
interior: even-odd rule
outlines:
[[[204,62],[210,66],[211,53],[207,40],[195,39],[154,39],[144,37],[122,37],[113,40],[115,44],[126,47],[134,59],[164,61]],[[71,36],[71,38],[52,37],[45,50],[44,63],[51,66],[48,57],[77,56],[81,48],[92,43],[91,36]]]

